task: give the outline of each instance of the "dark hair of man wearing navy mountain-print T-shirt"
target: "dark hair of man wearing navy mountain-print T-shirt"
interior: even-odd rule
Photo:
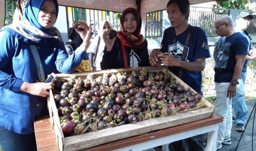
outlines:
[[[189,1],[188,0],[170,0],[166,7],[168,7],[169,5],[176,3],[179,7],[179,10],[181,10],[181,13],[186,17],[186,19],[188,20],[189,17]]]

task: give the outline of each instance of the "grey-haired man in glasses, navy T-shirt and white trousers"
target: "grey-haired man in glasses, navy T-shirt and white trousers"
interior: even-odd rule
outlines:
[[[248,50],[248,40],[242,33],[236,32],[233,21],[228,15],[221,15],[214,21],[216,33],[222,37],[215,43],[215,113],[222,115],[219,124],[216,149],[222,144],[231,144],[232,98],[241,82],[241,72]]]

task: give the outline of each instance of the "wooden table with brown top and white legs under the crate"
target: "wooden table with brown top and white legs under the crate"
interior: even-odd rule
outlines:
[[[86,150],[145,150],[162,146],[163,150],[168,150],[168,144],[184,138],[208,133],[206,150],[216,150],[217,131],[219,123],[223,117],[214,114],[211,118],[206,118],[191,123],[168,127],[166,129],[143,133],[138,136],[124,138],[122,140],[101,144]],[[42,118],[34,121],[37,150],[58,150],[55,133],[52,129],[50,119]]]

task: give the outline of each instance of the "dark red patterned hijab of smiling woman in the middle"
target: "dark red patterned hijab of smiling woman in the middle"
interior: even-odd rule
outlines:
[[[137,20],[137,28],[133,33],[129,33],[126,30],[124,30],[123,18],[124,18],[124,15],[126,15],[126,13],[133,13],[133,15]],[[140,34],[141,17],[139,15],[138,10],[135,8],[124,9],[120,18],[120,22],[121,22],[122,31],[117,32],[117,36],[119,37],[119,39],[121,39],[122,44],[134,49],[145,48],[146,47],[145,38],[142,36],[142,34]]]

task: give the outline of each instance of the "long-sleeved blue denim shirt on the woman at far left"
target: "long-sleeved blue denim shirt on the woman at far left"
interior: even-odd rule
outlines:
[[[11,28],[0,31],[0,126],[20,134],[34,132],[33,121],[47,103],[46,97],[21,92],[24,82],[36,83],[36,63],[29,45],[37,47],[45,75],[72,73],[84,59],[85,51],[76,50],[68,57],[56,38],[35,43]]]

